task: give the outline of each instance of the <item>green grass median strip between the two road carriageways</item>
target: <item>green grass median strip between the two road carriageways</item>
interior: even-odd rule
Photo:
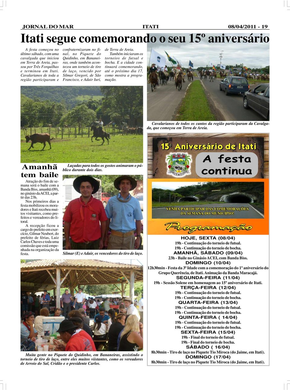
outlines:
[[[179,111],[176,115],[178,121],[215,121],[210,111],[205,90],[199,80],[193,81],[183,97]]]

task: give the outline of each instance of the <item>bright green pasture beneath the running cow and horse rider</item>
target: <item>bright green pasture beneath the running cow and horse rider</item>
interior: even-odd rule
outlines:
[[[40,132],[40,131],[39,131]],[[43,131],[44,133],[45,131]],[[28,132],[29,134],[29,132]],[[93,135],[93,134],[91,134]],[[55,138],[54,132],[51,137]],[[101,138],[96,141],[87,134],[58,135],[50,141],[52,149],[46,143],[43,151],[43,144],[34,144],[34,148],[28,150],[31,145],[26,143],[23,131],[21,131],[21,163],[142,163],[143,162],[143,135],[110,135],[109,145],[107,140],[103,145]]]

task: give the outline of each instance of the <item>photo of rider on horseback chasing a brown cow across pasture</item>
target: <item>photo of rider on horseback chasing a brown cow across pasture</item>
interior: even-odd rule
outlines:
[[[142,86],[21,87],[21,162],[142,163]]]

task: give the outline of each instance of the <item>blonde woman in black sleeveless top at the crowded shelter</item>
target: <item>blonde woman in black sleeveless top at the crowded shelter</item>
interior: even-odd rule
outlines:
[[[118,351],[138,351],[143,348],[143,324],[138,317],[130,314],[126,318],[125,328],[120,334]]]

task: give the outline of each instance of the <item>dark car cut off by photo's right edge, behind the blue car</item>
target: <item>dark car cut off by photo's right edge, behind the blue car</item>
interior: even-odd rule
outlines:
[[[270,84],[259,84],[256,88],[250,89],[244,94],[244,108],[253,108],[269,121],[270,116]]]

